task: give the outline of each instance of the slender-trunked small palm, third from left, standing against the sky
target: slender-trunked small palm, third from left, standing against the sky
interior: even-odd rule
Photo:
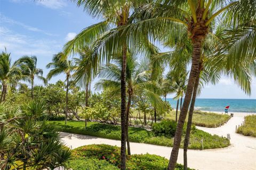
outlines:
[[[50,80],[52,77],[59,75],[61,73],[66,74],[66,113],[65,113],[65,124],[67,124],[68,116],[68,86],[69,79],[71,78],[71,72],[75,70],[73,61],[68,60],[68,57],[62,52],[55,54],[52,58],[52,62],[46,65],[47,69],[52,68],[47,74],[47,79]]]

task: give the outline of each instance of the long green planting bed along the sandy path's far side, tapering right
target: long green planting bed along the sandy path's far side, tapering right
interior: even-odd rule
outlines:
[[[70,132],[106,139],[121,140],[121,127],[119,125],[102,124],[98,122],[88,122],[85,129],[84,122],[68,121],[65,125],[64,121],[50,121],[55,128],[61,132]],[[163,136],[155,136],[154,132],[147,131],[142,128],[129,127],[129,139],[131,142],[148,143],[159,146],[173,146],[173,138]],[[218,135],[195,130],[190,135],[189,149],[201,149],[201,139],[204,141],[204,149],[223,148],[230,145],[227,138],[221,138]],[[183,147],[184,134],[182,137],[181,148]]]

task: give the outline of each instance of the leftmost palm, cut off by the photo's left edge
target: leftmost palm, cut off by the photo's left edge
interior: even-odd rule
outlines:
[[[17,65],[17,61],[12,64],[10,55],[11,53],[7,53],[6,49],[5,52],[2,52],[2,54],[0,54],[0,80],[2,82],[2,93],[0,102],[5,101],[7,94],[7,85],[10,82],[18,82],[22,79],[22,73]]]

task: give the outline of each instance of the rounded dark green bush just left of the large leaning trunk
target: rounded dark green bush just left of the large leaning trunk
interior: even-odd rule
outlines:
[[[176,126],[175,121],[163,120],[159,123],[154,123],[152,129],[157,136],[164,135],[165,137],[174,137]]]

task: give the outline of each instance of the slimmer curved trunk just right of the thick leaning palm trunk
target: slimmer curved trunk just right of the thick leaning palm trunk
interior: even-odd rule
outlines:
[[[195,102],[196,102],[197,88],[198,88],[198,85],[199,85],[199,78],[200,78],[200,72],[197,74],[197,78],[196,78],[195,86],[194,86],[194,91],[193,91],[193,97],[192,97],[192,100],[191,100],[189,113],[188,113],[188,124],[187,124],[187,129],[186,129],[184,147],[183,147],[184,170],[188,170],[187,151],[188,151],[188,144],[189,144],[189,137],[190,137],[190,131],[191,131],[191,125],[192,125],[194,106],[195,106]]]

